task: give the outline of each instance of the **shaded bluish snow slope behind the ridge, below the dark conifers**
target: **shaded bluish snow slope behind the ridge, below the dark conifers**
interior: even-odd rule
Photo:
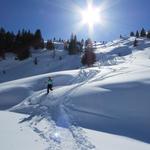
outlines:
[[[7,54],[6,60],[0,61],[0,83],[43,73],[77,69],[81,66],[79,55],[69,56],[65,50],[56,49],[55,57],[53,56],[54,51],[34,50],[32,57],[19,61],[15,60],[12,54]],[[35,58],[38,65],[34,64]]]

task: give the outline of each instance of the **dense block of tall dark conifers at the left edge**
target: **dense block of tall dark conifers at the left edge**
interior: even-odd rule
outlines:
[[[31,55],[30,48],[44,48],[40,29],[37,29],[35,33],[23,29],[15,34],[0,28],[0,57],[5,59],[5,54],[12,52],[16,54],[17,59],[23,60]]]

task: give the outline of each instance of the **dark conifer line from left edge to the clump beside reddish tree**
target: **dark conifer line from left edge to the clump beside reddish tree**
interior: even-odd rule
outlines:
[[[54,42],[63,42],[64,47],[68,50],[69,55],[77,54],[81,52],[83,48],[83,40],[77,41],[76,35],[71,35],[71,39],[68,41],[47,40],[44,43],[42,33],[40,29],[37,29],[35,33],[30,30],[19,30],[16,34],[10,31],[6,31],[4,28],[0,28],[0,57],[5,59],[5,54],[11,52],[16,54],[16,59],[23,60],[31,55],[30,49],[43,49],[54,50]]]

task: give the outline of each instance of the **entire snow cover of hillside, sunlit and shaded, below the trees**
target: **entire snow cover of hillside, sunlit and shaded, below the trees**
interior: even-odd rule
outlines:
[[[32,58],[0,62],[1,67],[9,64],[6,74],[0,74],[0,109],[7,109],[0,112],[2,133],[12,132],[7,131],[11,123],[14,133],[20,126],[24,130],[14,134],[13,143],[23,137],[14,149],[37,149],[36,139],[41,150],[150,149],[150,41],[138,39],[136,48],[133,41],[99,44],[91,68],[80,67],[79,55],[68,56],[61,49],[55,59],[46,50],[34,53],[38,66]],[[61,62],[59,55],[64,57]],[[48,76],[54,91],[46,95]],[[0,141],[7,150],[11,137],[3,138],[4,134]],[[27,135],[32,138],[28,145]]]

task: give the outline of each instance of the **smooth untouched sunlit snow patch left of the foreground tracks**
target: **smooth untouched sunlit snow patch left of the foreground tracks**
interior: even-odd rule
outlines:
[[[46,149],[47,143],[20,120],[26,115],[0,111],[0,148],[2,150]]]

